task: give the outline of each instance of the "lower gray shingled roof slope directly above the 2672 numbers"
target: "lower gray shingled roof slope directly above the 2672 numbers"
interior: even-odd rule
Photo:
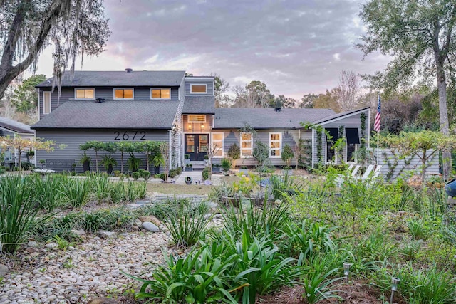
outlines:
[[[179,101],[68,100],[32,129],[171,129]]]

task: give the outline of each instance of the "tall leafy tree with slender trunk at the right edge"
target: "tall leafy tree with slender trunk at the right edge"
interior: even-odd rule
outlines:
[[[417,78],[437,80],[440,131],[448,135],[447,78],[454,71],[456,2],[370,0],[362,5],[360,16],[367,31],[358,48],[365,56],[380,51],[393,58],[384,73],[369,78],[371,83],[391,89]],[[443,160],[446,178],[450,154]]]

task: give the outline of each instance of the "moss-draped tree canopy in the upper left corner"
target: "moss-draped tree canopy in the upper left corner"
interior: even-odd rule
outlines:
[[[0,0],[0,98],[9,83],[53,46],[53,75],[60,79],[68,62],[99,55],[110,36],[103,0]]]

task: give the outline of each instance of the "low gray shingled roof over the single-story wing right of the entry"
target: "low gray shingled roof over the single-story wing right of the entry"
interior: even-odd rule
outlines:
[[[334,114],[331,109],[275,109],[217,108],[214,129],[242,128],[246,124],[254,129],[292,129],[301,122],[315,122]]]

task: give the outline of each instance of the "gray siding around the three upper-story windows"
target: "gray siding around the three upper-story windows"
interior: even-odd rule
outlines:
[[[115,87],[115,88],[130,88],[130,87]],[[135,100],[150,100],[150,89],[151,88],[134,88],[134,99]],[[59,105],[65,103],[69,99],[74,99],[75,88],[62,88],[60,100],[58,99],[57,88],[51,93],[51,111],[56,110]],[[48,89],[40,90],[40,119],[46,115],[43,115],[43,92],[49,92]],[[105,100],[114,99],[114,87],[107,88],[95,88],[95,99],[104,98]],[[179,100],[179,88],[171,88],[171,100]],[[163,100],[165,103],[167,100]]]

